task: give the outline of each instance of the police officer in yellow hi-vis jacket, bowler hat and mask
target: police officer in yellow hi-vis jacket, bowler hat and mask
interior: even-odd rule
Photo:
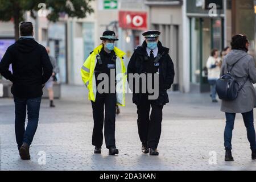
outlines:
[[[117,104],[125,106],[125,52],[114,46],[118,40],[115,32],[105,31],[101,40],[102,44],[90,53],[82,66],[81,76],[89,89],[89,100],[92,101],[94,154],[101,154],[104,126],[106,148],[109,149],[109,155],[116,155],[115,112]]]

